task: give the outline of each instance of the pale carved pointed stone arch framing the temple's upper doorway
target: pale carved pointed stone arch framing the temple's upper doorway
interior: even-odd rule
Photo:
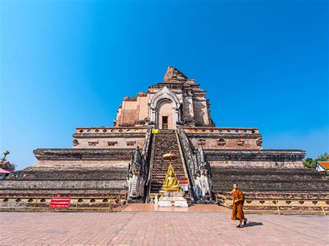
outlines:
[[[164,102],[171,103],[173,109],[172,127],[173,129],[176,129],[177,123],[181,123],[180,106],[182,105],[182,102],[180,102],[176,94],[168,89],[168,87],[163,87],[151,100],[149,100],[150,124],[154,125],[155,128],[160,128],[159,111],[161,104]]]

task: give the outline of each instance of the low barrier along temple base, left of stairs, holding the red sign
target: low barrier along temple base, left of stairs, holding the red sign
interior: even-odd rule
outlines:
[[[69,209],[49,209],[52,197],[0,197],[0,211],[120,211],[127,194],[106,197],[70,197]]]

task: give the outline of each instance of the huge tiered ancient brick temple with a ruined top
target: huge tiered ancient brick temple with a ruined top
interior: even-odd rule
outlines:
[[[192,202],[238,182],[255,197],[328,195],[326,175],[303,167],[303,150],[263,150],[258,128],[217,128],[206,91],[174,67],[163,82],[125,97],[112,128],[76,128],[70,149],[34,150],[37,163],[1,181],[1,195],[109,195],[149,202],[169,161]]]

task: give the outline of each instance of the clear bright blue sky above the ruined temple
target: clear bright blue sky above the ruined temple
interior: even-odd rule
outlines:
[[[0,3],[0,149],[71,148],[112,126],[124,96],[168,66],[208,91],[217,127],[258,127],[264,148],[329,150],[327,1]]]

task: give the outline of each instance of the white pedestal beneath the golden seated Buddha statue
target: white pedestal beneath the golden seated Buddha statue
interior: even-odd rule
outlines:
[[[158,207],[189,207],[184,191],[160,191]]]

